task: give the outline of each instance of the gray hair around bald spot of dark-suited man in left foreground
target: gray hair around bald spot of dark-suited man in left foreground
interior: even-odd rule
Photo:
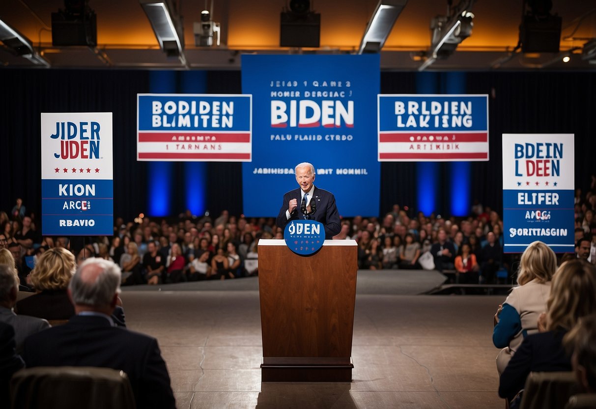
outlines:
[[[95,281],[83,278],[82,271],[86,269],[100,269]],[[77,268],[69,283],[73,303],[79,305],[105,306],[110,305],[114,294],[120,293],[122,272],[113,261],[100,258],[88,258]]]

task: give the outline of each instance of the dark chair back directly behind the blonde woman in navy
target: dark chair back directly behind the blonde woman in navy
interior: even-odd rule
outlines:
[[[520,409],[563,408],[576,391],[575,374],[569,372],[530,372]]]

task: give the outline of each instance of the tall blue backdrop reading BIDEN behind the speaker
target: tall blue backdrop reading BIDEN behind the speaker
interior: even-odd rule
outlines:
[[[311,162],[315,185],[342,216],[378,215],[379,56],[243,55],[242,92],[253,95],[253,160],[243,163],[244,214],[275,216]]]

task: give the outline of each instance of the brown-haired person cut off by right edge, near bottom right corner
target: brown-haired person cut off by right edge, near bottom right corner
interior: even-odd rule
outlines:
[[[579,320],[563,339],[582,393],[596,393],[596,314]]]

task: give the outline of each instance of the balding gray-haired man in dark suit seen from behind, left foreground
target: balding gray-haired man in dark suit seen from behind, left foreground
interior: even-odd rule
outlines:
[[[138,408],[174,408],[166,364],[153,337],[115,327],[110,317],[120,293],[120,268],[90,258],[70,280],[75,312],[69,322],[27,338],[27,367],[91,366],[123,370]]]

